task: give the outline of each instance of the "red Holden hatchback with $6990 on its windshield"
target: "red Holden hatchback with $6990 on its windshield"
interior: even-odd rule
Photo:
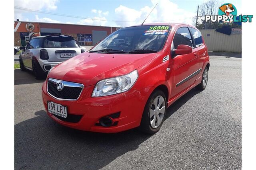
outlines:
[[[156,133],[166,109],[208,81],[198,29],[183,23],[126,27],[52,68],[42,86],[47,114],[61,125],[103,133]]]

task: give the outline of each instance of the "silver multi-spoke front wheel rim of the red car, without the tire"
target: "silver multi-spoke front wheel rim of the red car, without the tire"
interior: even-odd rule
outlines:
[[[155,129],[162,123],[165,107],[163,96],[157,96],[154,98],[149,110],[149,120],[152,128]]]

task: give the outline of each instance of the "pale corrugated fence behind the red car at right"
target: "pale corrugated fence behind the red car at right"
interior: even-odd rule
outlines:
[[[215,29],[201,29],[208,51],[242,53],[241,31],[232,30],[231,35],[215,31]]]

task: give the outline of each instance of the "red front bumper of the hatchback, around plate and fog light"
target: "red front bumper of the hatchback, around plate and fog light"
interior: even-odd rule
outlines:
[[[92,98],[91,94],[94,85],[85,86],[78,100],[64,101],[52,98],[47,93],[46,85],[47,80],[42,86],[42,99],[45,110],[54,121],[57,121],[61,125],[84,131],[102,133],[116,133],[140,125],[146,101],[137,90],[131,89],[121,94]],[[57,118],[55,115],[52,115],[52,113],[48,112],[48,101],[67,106],[68,115],[80,115],[81,119],[77,123],[71,123]],[[114,123],[114,125],[110,127],[99,125],[100,118],[118,112],[120,116],[113,119],[113,121],[117,123]]]

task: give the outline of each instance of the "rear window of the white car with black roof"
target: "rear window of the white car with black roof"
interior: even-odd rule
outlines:
[[[78,44],[72,37],[52,36],[44,39],[44,48],[76,48]]]

